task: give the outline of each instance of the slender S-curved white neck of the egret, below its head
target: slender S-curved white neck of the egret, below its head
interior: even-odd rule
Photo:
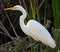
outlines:
[[[24,30],[26,30],[26,25],[24,23],[24,19],[26,18],[27,13],[24,10],[24,8],[21,8],[20,11],[22,12],[22,15],[20,16],[20,26],[21,26],[21,29],[24,31]]]

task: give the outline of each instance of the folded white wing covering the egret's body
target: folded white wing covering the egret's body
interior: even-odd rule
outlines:
[[[49,45],[49,44],[52,45],[52,42],[54,43],[54,40],[52,39],[49,32],[45,29],[44,26],[42,26],[37,21],[30,20],[27,23],[27,27],[28,27],[29,35],[36,41],[41,41],[46,45]]]

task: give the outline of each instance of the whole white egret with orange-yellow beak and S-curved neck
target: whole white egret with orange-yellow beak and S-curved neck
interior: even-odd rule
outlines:
[[[41,41],[42,43],[50,46],[51,48],[56,47],[55,41],[51,37],[50,33],[39,22],[37,22],[36,20],[29,20],[27,25],[24,24],[24,19],[26,18],[27,13],[22,6],[16,5],[14,7],[5,8],[4,10],[19,10],[19,11],[21,11],[22,15],[20,16],[19,22],[20,22],[22,31],[26,35],[35,39],[36,41]]]

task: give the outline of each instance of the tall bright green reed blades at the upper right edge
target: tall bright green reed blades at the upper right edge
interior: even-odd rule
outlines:
[[[52,0],[53,14],[54,14],[54,26],[56,29],[60,28],[60,0]]]

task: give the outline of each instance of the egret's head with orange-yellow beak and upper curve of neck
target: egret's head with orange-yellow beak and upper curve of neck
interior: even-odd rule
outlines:
[[[27,13],[26,13],[25,9],[21,5],[15,5],[13,7],[4,8],[4,10],[18,10],[18,11],[22,12],[24,17],[27,16]]]

